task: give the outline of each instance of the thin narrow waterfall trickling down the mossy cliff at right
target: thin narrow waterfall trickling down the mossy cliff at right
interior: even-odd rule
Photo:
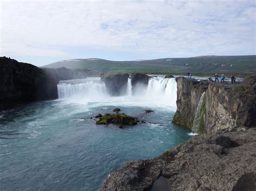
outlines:
[[[197,111],[194,116],[194,122],[192,131],[194,133],[202,133],[204,131],[204,98],[205,98],[205,92],[201,95],[200,100],[197,105]]]

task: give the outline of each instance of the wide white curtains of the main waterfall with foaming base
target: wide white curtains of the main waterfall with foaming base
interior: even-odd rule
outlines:
[[[68,103],[176,109],[177,84],[174,78],[152,77],[149,79],[147,88],[141,88],[135,94],[132,94],[131,79],[129,78],[127,93],[117,97],[107,94],[105,84],[100,81],[99,77],[60,81],[57,87],[59,99]]]

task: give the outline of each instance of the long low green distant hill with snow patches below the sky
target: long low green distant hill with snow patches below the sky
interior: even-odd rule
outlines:
[[[43,66],[90,69],[97,72],[144,73],[256,73],[256,55],[197,56],[155,60],[110,61],[97,58],[72,59]]]

